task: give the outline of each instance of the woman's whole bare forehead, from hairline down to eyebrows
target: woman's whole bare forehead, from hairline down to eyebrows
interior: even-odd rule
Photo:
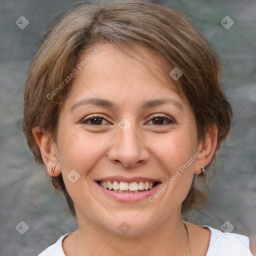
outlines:
[[[79,63],[69,99],[103,96],[125,102],[133,97],[132,104],[149,98],[166,98],[166,95],[174,97],[173,100],[181,99],[174,91],[164,61],[140,45],[95,44],[80,55]]]

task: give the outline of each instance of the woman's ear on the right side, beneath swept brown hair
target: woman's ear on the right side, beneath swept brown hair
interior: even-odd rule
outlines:
[[[216,125],[208,126],[205,138],[203,142],[200,142],[197,150],[201,153],[196,161],[194,166],[194,173],[200,174],[201,168],[205,167],[213,157],[214,151],[217,146],[217,133],[218,129]]]

